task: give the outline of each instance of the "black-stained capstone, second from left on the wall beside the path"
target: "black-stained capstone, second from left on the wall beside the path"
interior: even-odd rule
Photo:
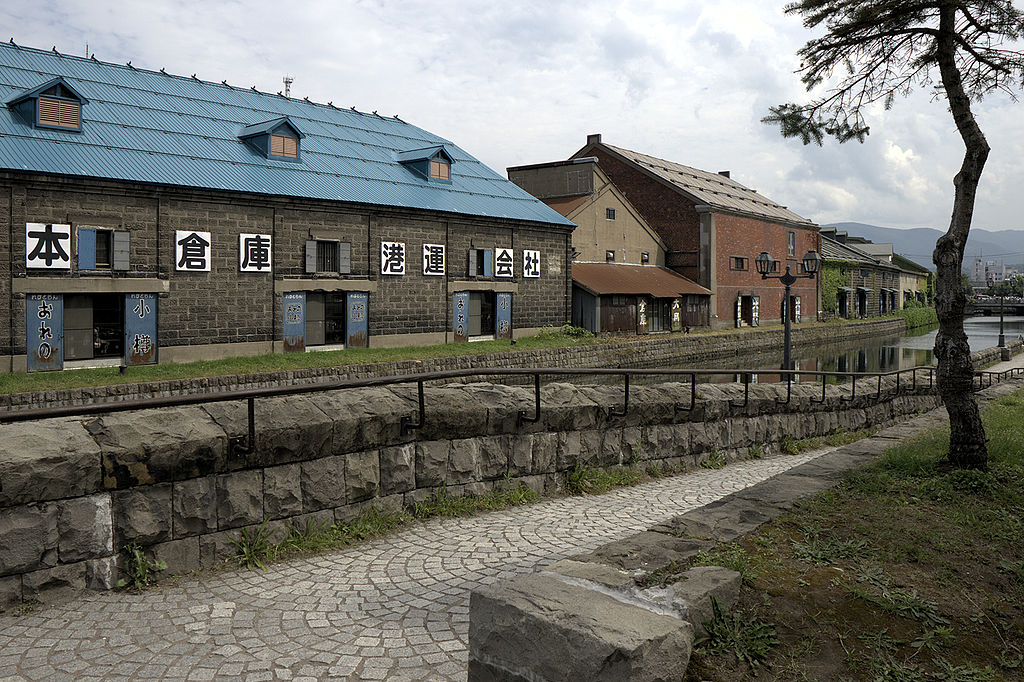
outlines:
[[[113,413],[87,428],[102,450],[106,488],[195,478],[226,465],[227,436],[201,408]]]

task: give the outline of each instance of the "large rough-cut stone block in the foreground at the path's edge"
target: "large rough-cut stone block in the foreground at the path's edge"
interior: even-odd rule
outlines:
[[[685,621],[527,574],[470,596],[469,680],[681,680],[693,644]]]

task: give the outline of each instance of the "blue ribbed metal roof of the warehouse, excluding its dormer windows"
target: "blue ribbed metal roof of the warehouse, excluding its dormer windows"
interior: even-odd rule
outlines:
[[[81,132],[34,128],[0,111],[0,168],[572,223],[458,145],[397,118],[196,78],[0,43],[0,101],[62,78],[87,98]],[[302,162],[266,159],[240,132],[282,119]],[[452,182],[398,162],[443,146]]]

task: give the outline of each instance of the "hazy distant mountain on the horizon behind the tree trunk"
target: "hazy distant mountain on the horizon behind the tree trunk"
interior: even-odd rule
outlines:
[[[876,244],[891,243],[896,253],[930,270],[935,269],[935,265],[932,264],[935,241],[945,233],[945,230],[932,227],[898,229],[862,222],[837,222],[822,226],[846,230],[851,237],[863,237]],[[1024,229],[992,231],[972,228],[967,240],[967,248],[964,249],[964,269],[967,270],[978,257],[1002,262],[1008,266],[1024,263]]]

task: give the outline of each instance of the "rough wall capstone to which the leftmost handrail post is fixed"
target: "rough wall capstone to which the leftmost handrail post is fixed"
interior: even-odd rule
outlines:
[[[333,455],[334,419],[319,408],[321,396],[263,398],[253,406],[255,452],[228,463],[230,468],[269,466]],[[231,437],[248,436],[244,402],[214,402],[204,408]]]

